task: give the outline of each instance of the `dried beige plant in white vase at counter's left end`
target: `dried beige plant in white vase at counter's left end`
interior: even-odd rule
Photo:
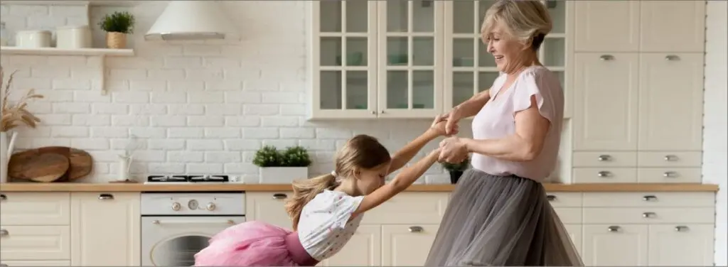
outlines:
[[[29,89],[23,97],[20,97],[20,100],[10,103],[10,84],[12,84],[13,76],[15,76],[15,72],[10,73],[7,84],[4,84],[4,71],[0,67],[0,91],[2,91],[0,94],[2,95],[0,102],[0,183],[7,183],[7,164],[13,151],[15,138],[17,138],[17,132],[12,132],[12,138],[8,140],[8,132],[22,125],[35,128],[36,124],[41,121],[27,109],[28,102],[43,98],[43,95],[36,94],[35,89]]]

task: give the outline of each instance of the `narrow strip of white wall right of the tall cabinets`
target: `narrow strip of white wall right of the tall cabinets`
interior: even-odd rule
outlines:
[[[708,1],[705,20],[703,183],[720,187],[716,206],[716,266],[728,265],[728,1]]]

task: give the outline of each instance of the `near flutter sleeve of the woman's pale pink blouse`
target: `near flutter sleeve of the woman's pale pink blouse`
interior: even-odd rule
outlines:
[[[531,107],[531,96],[536,97],[539,113],[547,120],[553,122],[558,116],[558,99],[556,99],[557,87],[554,83],[549,82],[548,73],[539,73],[536,71],[528,71],[518,78],[515,92],[513,92],[513,116],[518,111],[524,111]],[[563,104],[562,104],[563,105]]]

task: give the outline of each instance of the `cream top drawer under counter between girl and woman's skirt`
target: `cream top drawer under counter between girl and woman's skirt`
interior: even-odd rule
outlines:
[[[362,223],[440,223],[447,206],[446,193],[403,193],[366,212]]]

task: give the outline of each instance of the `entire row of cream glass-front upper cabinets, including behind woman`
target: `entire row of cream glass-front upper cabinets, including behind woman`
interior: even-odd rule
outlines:
[[[488,89],[498,71],[480,24],[493,2],[310,1],[311,118],[432,118]],[[562,84],[567,3],[547,2],[554,27],[539,51]]]

